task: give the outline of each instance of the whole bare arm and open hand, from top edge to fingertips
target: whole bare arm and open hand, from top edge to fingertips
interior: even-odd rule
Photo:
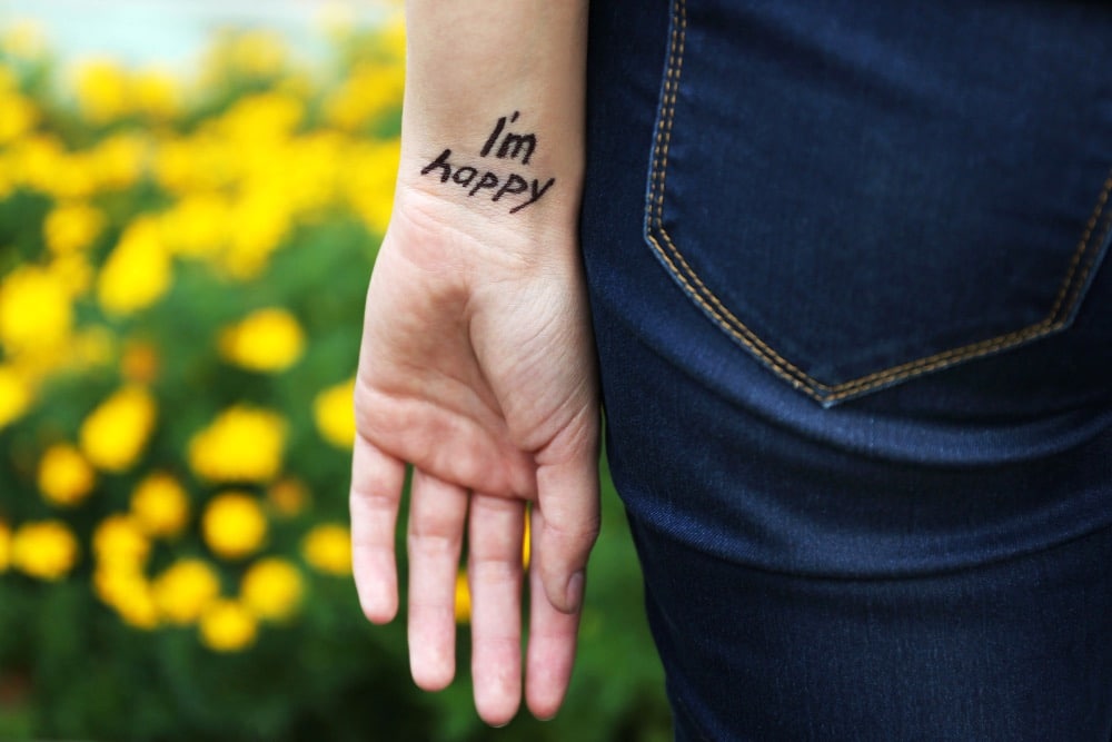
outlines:
[[[570,676],[598,528],[598,400],[576,225],[586,1],[409,0],[401,165],[367,294],[356,384],[354,567],[364,612],[397,612],[407,545],[415,681],[455,673],[465,524],[479,715],[520,699],[522,530],[532,503],[526,701]]]

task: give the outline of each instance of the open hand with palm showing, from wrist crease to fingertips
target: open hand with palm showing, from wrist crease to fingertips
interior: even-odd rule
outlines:
[[[455,674],[467,523],[475,705],[495,725],[522,694],[526,504],[525,695],[540,719],[567,690],[598,532],[598,390],[574,221],[506,221],[399,190],[367,294],[350,498],[360,603],[385,623],[398,607],[395,522],[413,464],[409,657],[425,690]]]

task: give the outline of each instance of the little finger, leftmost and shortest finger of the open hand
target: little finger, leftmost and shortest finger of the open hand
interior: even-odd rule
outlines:
[[[351,572],[364,615],[386,623],[398,612],[394,556],[398,502],[406,465],[356,435],[351,455]]]

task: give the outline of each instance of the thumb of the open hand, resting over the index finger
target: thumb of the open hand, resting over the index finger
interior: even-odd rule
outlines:
[[[574,613],[583,603],[587,557],[598,537],[598,459],[594,446],[537,467],[534,568],[544,593],[558,611]]]

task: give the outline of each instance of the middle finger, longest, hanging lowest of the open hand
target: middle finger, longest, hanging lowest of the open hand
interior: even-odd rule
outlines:
[[[525,504],[473,494],[467,575],[471,591],[475,708],[494,726],[522,701],[522,535]]]

